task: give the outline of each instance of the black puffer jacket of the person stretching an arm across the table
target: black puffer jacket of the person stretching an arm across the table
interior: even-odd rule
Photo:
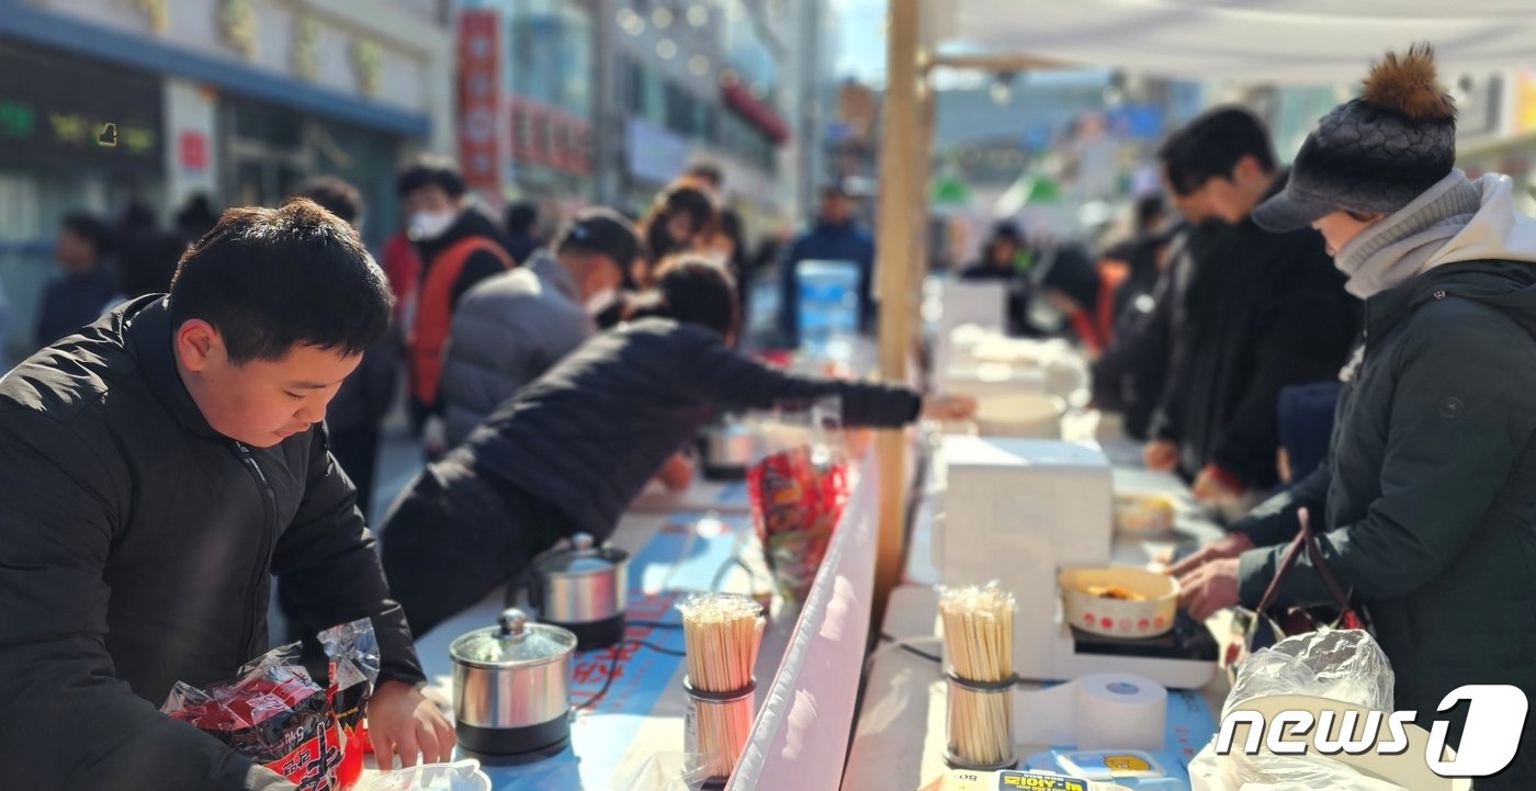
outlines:
[[[782,373],[697,324],[650,318],[587,341],[518,392],[455,455],[604,538],[656,470],[714,413],[839,395],[849,425],[917,418],[906,387]]]

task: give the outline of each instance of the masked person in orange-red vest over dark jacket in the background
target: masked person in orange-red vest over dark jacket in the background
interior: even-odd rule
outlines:
[[[453,309],[476,283],[515,264],[495,220],[467,198],[464,177],[452,160],[413,161],[399,172],[396,189],[422,263],[416,315],[406,339],[412,418],[427,455],[436,456],[445,444],[438,381]]]

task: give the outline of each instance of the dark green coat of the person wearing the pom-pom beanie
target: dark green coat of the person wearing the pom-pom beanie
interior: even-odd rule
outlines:
[[[1330,459],[1235,525],[1267,547],[1243,554],[1241,597],[1258,604],[1307,507],[1392,659],[1399,710],[1433,717],[1465,683],[1536,696],[1536,266],[1447,264],[1366,316]],[[1329,601],[1306,556],[1279,594]],[[1525,736],[1510,788],[1536,783]]]

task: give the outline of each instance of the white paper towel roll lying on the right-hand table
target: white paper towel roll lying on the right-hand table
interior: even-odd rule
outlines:
[[[1167,690],[1141,676],[1095,673],[1014,693],[1020,745],[1160,753],[1166,730]]]

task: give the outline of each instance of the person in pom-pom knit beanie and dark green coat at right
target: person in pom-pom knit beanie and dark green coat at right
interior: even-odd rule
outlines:
[[[1387,55],[1255,212],[1322,233],[1366,300],[1366,338],[1341,375],[1329,461],[1170,571],[1195,617],[1255,607],[1306,508],[1318,559],[1392,660],[1396,708],[1425,728],[1450,720],[1467,754],[1504,734],[1470,728],[1465,707],[1438,711],[1452,691],[1536,694],[1536,220],[1514,213],[1507,177],[1455,169],[1455,137],[1430,48]],[[1278,593],[1332,601],[1306,553]],[[1536,728],[1508,757],[1478,791],[1536,788]]]

